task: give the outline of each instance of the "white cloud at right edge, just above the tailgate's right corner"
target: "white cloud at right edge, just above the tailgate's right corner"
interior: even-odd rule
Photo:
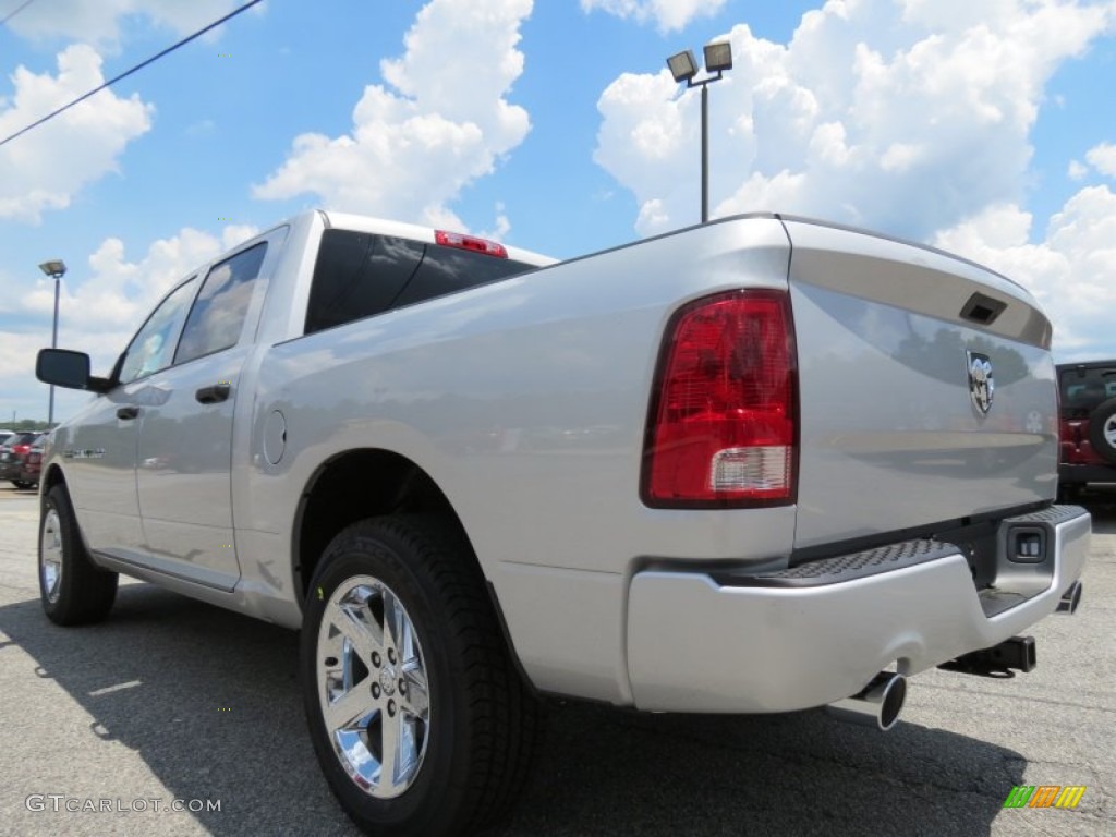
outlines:
[[[1116,352],[1116,194],[1088,186],[1030,243],[1033,220],[1014,204],[988,206],[940,232],[934,244],[1011,277],[1030,290],[1055,325],[1059,360]]]

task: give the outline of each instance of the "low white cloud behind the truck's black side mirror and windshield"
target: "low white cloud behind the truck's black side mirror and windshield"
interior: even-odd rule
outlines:
[[[252,227],[229,225],[219,238],[184,228],[152,243],[135,261],[128,260],[123,241],[105,239],[89,256],[87,266],[71,264],[62,279],[58,345],[88,353],[94,373],[107,374],[164,294],[199,264],[256,233]],[[26,417],[45,419],[46,388],[32,379],[30,371],[35,367],[35,354],[49,345],[54,280],[40,278],[35,287],[28,288],[0,275],[0,299],[3,299],[0,314],[8,321],[0,330],[0,392],[4,404],[22,404],[21,414]],[[65,417],[85,398],[61,391],[56,396],[60,400],[56,417]],[[40,401],[41,413],[27,413],[31,407],[26,405]]]

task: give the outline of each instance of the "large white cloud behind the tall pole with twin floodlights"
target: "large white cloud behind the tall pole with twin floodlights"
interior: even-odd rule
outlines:
[[[829,0],[786,45],[734,27],[734,69],[710,87],[713,214],[795,212],[923,239],[1019,203],[1047,83],[1114,13],[1077,0]],[[635,194],[642,234],[698,220],[699,103],[665,69],[600,96],[595,158]]]

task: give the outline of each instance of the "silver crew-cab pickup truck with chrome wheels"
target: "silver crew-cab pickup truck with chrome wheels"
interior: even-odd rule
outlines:
[[[309,212],[106,377],[40,353],[95,393],[44,459],[42,605],[102,619],[124,573],[300,629],[373,834],[499,817],[540,694],[886,729],[907,676],[1028,671],[1077,607],[1050,338],[1002,276],[797,218],[555,263]]]

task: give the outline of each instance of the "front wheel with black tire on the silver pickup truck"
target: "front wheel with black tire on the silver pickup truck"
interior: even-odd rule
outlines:
[[[102,622],[116,600],[116,573],[89,559],[65,485],[42,498],[39,517],[39,595],[57,625]]]

